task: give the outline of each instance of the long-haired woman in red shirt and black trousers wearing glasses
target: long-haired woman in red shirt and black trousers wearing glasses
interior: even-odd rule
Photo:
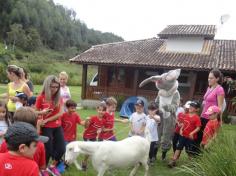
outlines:
[[[49,141],[45,143],[46,163],[48,164],[52,157],[53,162],[49,168],[58,175],[56,165],[65,153],[65,142],[60,120],[63,103],[60,98],[60,83],[56,76],[50,75],[44,80],[42,93],[37,97],[35,106],[38,111],[48,110],[48,113],[42,116],[42,134],[49,137]]]

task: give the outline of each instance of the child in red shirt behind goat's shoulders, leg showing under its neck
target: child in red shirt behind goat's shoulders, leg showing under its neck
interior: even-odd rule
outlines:
[[[106,106],[104,103],[100,103],[97,107],[97,115],[91,116],[85,121],[85,130],[83,134],[84,141],[96,141],[97,136],[103,127],[103,116],[106,113]],[[87,169],[89,156],[86,155],[82,162],[82,169]]]

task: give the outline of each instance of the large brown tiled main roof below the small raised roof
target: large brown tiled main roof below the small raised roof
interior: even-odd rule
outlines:
[[[193,70],[219,68],[236,72],[236,40],[205,40],[201,53],[167,52],[166,40],[96,45],[71,59],[78,64],[120,65],[131,67],[168,67]]]

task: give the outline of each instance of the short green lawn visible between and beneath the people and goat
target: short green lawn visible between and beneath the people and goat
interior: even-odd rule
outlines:
[[[40,93],[42,89],[42,86],[36,85],[35,86],[35,93]],[[74,100],[80,100],[80,93],[81,93],[81,87],[78,86],[70,86],[70,90],[71,90],[71,94],[72,94],[72,98]],[[6,91],[6,85],[0,85],[0,94],[4,93]],[[88,116],[94,115],[96,114],[96,111],[93,109],[82,109],[82,110],[78,110],[78,113],[80,114],[81,118],[86,118]],[[116,117],[118,117],[119,114],[118,112],[116,113]],[[230,136],[231,134],[235,134],[235,130],[236,130],[236,126],[233,125],[224,125],[222,131],[224,132],[224,134],[226,136]],[[121,140],[127,137],[128,135],[128,131],[129,131],[129,126],[128,124],[120,124],[120,123],[116,123],[115,124],[115,132],[117,135],[117,139]],[[78,140],[82,139],[82,133],[83,133],[83,127],[78,126]],[[222,138],[221,138],[222,139]],[[232,141],[231,141],[232,142]],[[236,146],[235,145],[235,140],[234,143],[231,143],[231,148],[233,148]],[[223,146],[228,146],[228,145],[224,145],[224,141],[221,141],[221,145],[219,145],[220,147],[218,147],[218,152],[220,152],[221,147],[223,148]],[[223,150],[224,152],[227,151],[227,148],[225,147],[225,150]],[[189,173],[183,172],[181,171],[179,168],[174,168],[174,169],[169,169],[167,167],[167,162],[168,161],[161,161],[160,160],[160,151],[158,152],[158,160],[156,161],[156,163],[154,164],[154,166],[151,166],[149,169],[149,175],[150,176],[189,176]],[[222,152],[221,152],[222,153]],[[170,158],[172,155],[172,151],[170,151],[168,153],[168,158]],[[233,157],[235,157],[235,155],[233,155]],[[232,157],[231,157],[232,158]],[[81,160],[81,157],[78,158],[78,160]],[[222,162],[224,162],[224,160],[221,160]],[[213,164],[215,164],[214,161],[212,161]],[[191,162],[188,160],[185,152],[183,152],[183,154],[180,157],[180,160],[178,161],[178,166],[188,166],[188,164],[190,164]],[[217,163],[216,163],[217,164]],[[193,162],[193,165],[195,165],[195,162]],[[216,165],[217,167],[220,168],[219,165]],[[181,167],[182,168],[182,167]],[[236,168],[236,167],[235,167]],[[124,168],[124,169],[115,169],[115,170],[111,170],[110,172],[106,173],[106,176],[108,175],[112,175],[112,176],[127,176],[129,175],[129,172],[131,171],[132,168]],[[182,168],[183,169],[183,168]],[[187,168],[185,167],[184,170],[186,170]],[[188,169],[193,169],[192,167],[188,168]],[[69,167],[69,169],[63,174],[63,176],[76,176],[76,175],[81,175],[81,176],[94,176],[96,175],[95,170],[93,169],[91,163],[89,164],[89,169],[86,172],[82,172],[82,171],[78,171],[74,165],[71,165]],[[144,169],[142,167],[140,167],[140,169],[138,170],[137,176],[141,176],[144,175]],[[196,175],[196,174],[195,174]],[[214,176],[221,176],[220,173],[217,173]],[[205,176],[205,175],[199,175],[199,176]],[[206,175],[208,176],[208,175]],[[209,175],[209,176],[213,176],[213,175]]]

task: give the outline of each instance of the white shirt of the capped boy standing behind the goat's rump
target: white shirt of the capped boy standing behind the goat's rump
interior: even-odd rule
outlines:
[[[133,135],[140,135],[138,133],[140,133],[140,130],[143,126],[146,126],[146,114],[144,113],[137,113],[134,112],[131,116],[130,116],[130,122],[132,123],[132,129],[133,129],[133,134],[129,133],[129,136],[133,136]],[[144,133],[141,134],[140,136],[144,136]]]

